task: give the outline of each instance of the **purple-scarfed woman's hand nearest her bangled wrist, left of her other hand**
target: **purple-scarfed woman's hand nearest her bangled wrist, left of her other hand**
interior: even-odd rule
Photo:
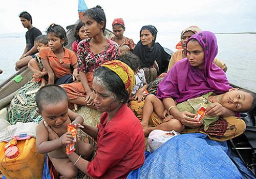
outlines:
[[[185,126],[190,127],[190,128],[197,128],[202,125],[202,123],[194,118],[188,117],[188,116],[196,116],[192,113],[189,113],[188,111],[183,111],[181,112],[177,119]]]

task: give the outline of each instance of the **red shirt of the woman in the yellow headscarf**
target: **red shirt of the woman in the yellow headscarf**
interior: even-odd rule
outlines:
[[[108,114],[100,118],[97,155],[87,166],[93,178],[125,178],[144,162],[143,129],[133,111],[123,104],[107,124]]]

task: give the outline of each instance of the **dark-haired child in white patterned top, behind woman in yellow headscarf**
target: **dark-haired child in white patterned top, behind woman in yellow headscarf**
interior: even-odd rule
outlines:
[[[120,49],[119,49],[120,50]],[[135,85],[130,100],[138,100],[140,102],[147,94],[147,83],[143,69],[140,69],[139,57],[129,52],[119,57],[119,60],[126,63],[134,71]]]

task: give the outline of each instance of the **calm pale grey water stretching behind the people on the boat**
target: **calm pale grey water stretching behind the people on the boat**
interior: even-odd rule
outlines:
[[[137,33],[126,33],[127,37],[138,42]],[[175,51],[180,34],[160,34],[157,41]],[[256,35],[217,34],[219,53],[217,58],[228,66],[227,77],[230,83],[256,92]],[[25,48],[25,37],[0,37],[0,83],[15,73],[14,65]]]

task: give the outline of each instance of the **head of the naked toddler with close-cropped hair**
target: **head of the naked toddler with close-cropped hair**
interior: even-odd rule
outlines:
[[[38,113],[47,124],[59,128],[68,119],[68,96],[66,91],[55,84],[39,89],[35,96]]]

